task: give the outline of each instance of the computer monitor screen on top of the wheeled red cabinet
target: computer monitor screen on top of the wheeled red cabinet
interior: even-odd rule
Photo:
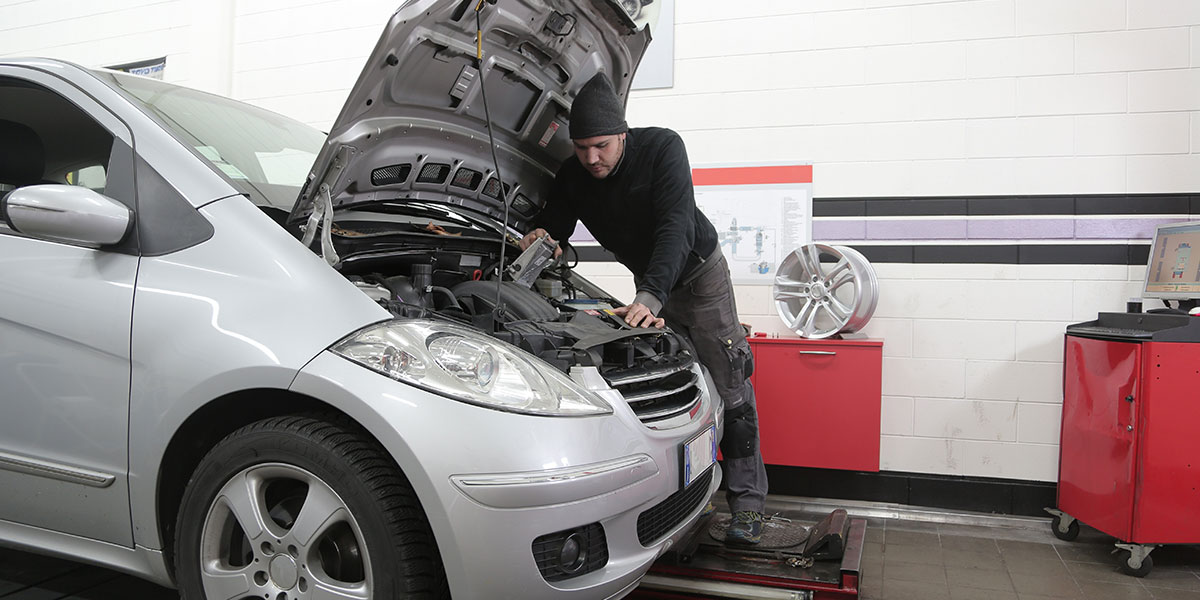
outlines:
[[[1158,226],[1144,298],[1200,298],[1200,222]]]

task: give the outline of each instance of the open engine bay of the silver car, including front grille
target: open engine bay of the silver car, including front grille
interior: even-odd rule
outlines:
[[[565,262],[547,260],[532,276],[529,254],[522,258],[512,235],[502,264],[498,232],[430,214],[413,218],[412,205],[406,218],[390,214],[382,223],[376,209],[370,220],[340,215],[331,228],[342,257],[336,268],[397,318],[470,325],[566,373],[595,367],[647,424],[698,402],[688,338],[629,326],[612,312],[622,302]]]

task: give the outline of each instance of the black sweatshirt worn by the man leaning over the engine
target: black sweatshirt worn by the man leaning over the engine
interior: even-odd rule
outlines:
[[[696,208],[683,139],[661,127],[630,130],[620,163],[605,179],[575,156],[563,162],[534,223],[565,241],[576,221],[632,271],[635,301],[654,314],[716,250],[716,229]]]

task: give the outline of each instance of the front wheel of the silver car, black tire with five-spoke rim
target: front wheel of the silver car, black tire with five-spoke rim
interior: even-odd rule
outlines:
[[[341,419],[278,416],[230,433],[192,474],[175,530],[186,600],[212,600],[206,587],[229,575],[236,586],[212,595],[304,600],[325,587],[364,600],[450,598],[412,485]]]

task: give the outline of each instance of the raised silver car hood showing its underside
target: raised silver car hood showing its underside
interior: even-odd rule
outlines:
[[[656,4],[406,2],[334,122],[292,220],[305,218],[314,202],[337,208],[406,199],[461,205],[499,220],[506,199],[509,224],[524,230],[571,155],[572,98],[599,72],[622,100],[628,97]]]

